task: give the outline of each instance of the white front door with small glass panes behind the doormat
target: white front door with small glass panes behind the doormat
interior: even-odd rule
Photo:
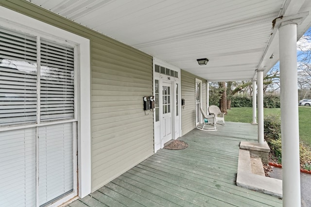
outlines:
[[[172,140],[172,84],[162,82],[161,90],[161,143]]]

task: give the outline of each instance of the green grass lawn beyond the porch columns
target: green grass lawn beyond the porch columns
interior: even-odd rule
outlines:
[[[298,111],[299,111],[300,139],[305,143],[311,145],[311,127],[309,123],[311,107],[301,106],[298,108]],[[264,116],[267,116],[269,114],[280,115],[280,112],[281,112],[280,108],[263,109]],[[225,121],[252,123],[253,108],[252,107],[231,108],[231,110],[228,110],[228,114],[225,116]]]

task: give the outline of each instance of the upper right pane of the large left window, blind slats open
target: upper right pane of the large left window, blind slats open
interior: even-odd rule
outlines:
[[[41,41],[40,119],[74,118],[73,48]]]

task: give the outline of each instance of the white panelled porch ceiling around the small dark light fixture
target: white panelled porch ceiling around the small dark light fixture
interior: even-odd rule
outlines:
[[[268,72],[278,60],[272,21],[311,11],[310,0],[29,1],[209,81]],[[298,38],[310,26],[309,15]],[[200,66],[199,58],[209,62]]]

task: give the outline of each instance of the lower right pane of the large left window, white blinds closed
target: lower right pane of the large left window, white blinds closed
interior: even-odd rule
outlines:
[[[72,150],[72,123],[39,127],[40,205],[73,191]]]

